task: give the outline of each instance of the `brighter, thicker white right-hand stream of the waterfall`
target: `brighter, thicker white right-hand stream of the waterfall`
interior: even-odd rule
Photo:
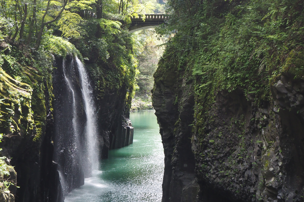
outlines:
[[[84,101],[87,122],[85,126],[85,137],[87,141],[86,152],[92,170],[98,169],[98,128],[96,120],[96,106],[94,104],[93,89],[89,82],[88,74],[82,62],[76,57],[81,82],[81,93]]]

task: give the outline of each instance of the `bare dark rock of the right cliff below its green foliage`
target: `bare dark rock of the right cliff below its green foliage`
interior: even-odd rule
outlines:
[[[165,153],[162,201],[304,201],[304,81],[282,73],[259,104],[240,89],[215,90],[198,117],[199,77],[176,64],[161,59],[152,90]],[[195,130],[200,120],[205,128]]]

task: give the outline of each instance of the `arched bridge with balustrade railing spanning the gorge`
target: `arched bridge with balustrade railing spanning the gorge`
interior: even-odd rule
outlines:
[[[143,15],[146,15],[145,21],[143,21]],[[129,32],[133,33],[142,29],[158,27],[159,25],[166,23],[169,16],[170,14],[139,14],[137,18],[131,17]]]

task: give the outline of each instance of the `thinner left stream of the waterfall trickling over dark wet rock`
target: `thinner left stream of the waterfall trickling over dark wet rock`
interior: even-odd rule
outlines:
[[[68,65],[66,65],[66,63]],[[76,72],[74,61],[63,60],[62,69],[55,75],[54,94],[54,161],[58,163],[58,173],[64,192],[71,191],[81,184],[83,176],[79,130],[79,112],[76,105],[79,96],[76,93]],[[78,93],[79,94],[79,93]],[[79,177],[80,176],[80,177]]]

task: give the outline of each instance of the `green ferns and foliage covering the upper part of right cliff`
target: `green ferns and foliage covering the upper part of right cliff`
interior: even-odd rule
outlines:
[[[304,79],[303,1],[169,0],[168,4],[167,12],[173,16],[159,33],[175,36],[167,43],[162,71],[174,67],[192,75],[197,134],[206,129],[205,112],[217,92],[243,92],[261,106],[271,101],[270,87],[281,74]],[[162,73],[157,72],[157,79]]]

